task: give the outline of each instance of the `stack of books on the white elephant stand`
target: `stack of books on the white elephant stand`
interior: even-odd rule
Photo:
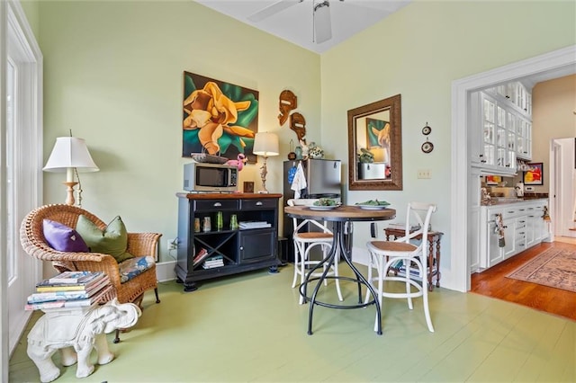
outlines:
[[[26,310],[59,307],[88,307],[112,288],[103,272],[62,272],[36,284],[28,297]]]

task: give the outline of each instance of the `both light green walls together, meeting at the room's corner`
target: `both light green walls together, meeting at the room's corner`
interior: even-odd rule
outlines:
[[[452,82],[575,44],[575,14],[572,1],[416,1],[320,56],[193,2],[41,1],[44,156],[68,129],[85,138],[101,171],[82,177],[84,207],[103,220],[121,214],[133,231],[163,233],[168,260],[186,162],[184,70],[260,92],[259,129],[281,138],[266,183],[278,192],[295,140],[276,118],[283,89],[298,95],[309,140],[345,168],[347,110],[401,94],[404,190],[347,191],[347,202],[383,198],[401,214],[409,200],[436,201],[433,226],[446,233],[449,265]],[[427,122],[435,149],[425,155]],[[418,169],[432,178],[417,179]],[[259,185],[257,165],[240,175]],[[63,176],[44,179],[45,202],[62,201]],[[355,245],[367,239],[358,224]]]

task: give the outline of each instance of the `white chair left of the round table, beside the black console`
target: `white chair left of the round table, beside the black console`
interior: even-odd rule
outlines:
[[[286,203],[288,206],[311,206],[317,199],[290,199]],[[326,221],[317,221],[314,219],[299,219],[293,218],[293,244],[294,244],[294,278],[292,287],[302,285],[306,278],[307,269],[320,263],[320,260],[311,260],[311,249],[314,246],[320,246],[323,258],[326,258],[332,247],[334,235],[327,226]],[[338,251],[338,250],[337,250]],[[334,264],[324,264],[322,272],[328,267],[330,271],[326,274],[328,276],[338,276],[338,263],[340,261],[339,251],[334,257]],[[311,277],[320,276],[322,272],[314,272]],[[300,275],[300,284],[297,284],[298,276]],[[336,281],[336,289],[338,291],[338,299],[343,300],[342,291],[340,290],[340,283]],[[324,281],[325,285],[328,281]],[[304,302],[302,295],[299,300],[300,304]]]

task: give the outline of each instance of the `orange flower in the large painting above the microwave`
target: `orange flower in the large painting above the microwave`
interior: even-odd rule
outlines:
[[[214,82],[208,82],[202,89],[193,91],[184,100],[185,130],[199,129],[198,139],[206,151],[215,155],[220,151],[218,138],[226,131],[238,137],[254,138],[254,132],[234,124],[238,120],[238,111],[250,107],[249,101],[234,102],[222,93]],[[240,144],[245,146],[240,139]]]

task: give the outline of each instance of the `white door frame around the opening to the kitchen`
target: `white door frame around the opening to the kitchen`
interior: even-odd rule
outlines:
[[[450,274],[451,289],[470,289],[470,266],[468,258],[468,219],[471,203],[468,201],[469,174],[471,173],[468,154],[467,116],[470,106],[470,93],[482,88],[518,80],[520,77],[535,76],[550,70],[576,67],[576,45],[554,50],[536,58],[528,58],[517,63],[499,67],[488,72],[469,76],[452,83],[452,179],[451,179],[451,245],[452,256]],[[575,70],[576,72],[576,70]],[[448,286],[446,286],[448,287]]]

